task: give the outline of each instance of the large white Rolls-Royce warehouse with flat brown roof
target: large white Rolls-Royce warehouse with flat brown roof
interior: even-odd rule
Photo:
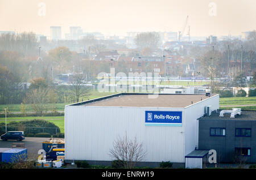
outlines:
[[[65,161],[110,165],[114,141],[127,134],[143,144],[141,166],[184,167],[185,156],[199,148],[198,119],[207,109],[219,109],[218,95],[119,93],[66,105]]]

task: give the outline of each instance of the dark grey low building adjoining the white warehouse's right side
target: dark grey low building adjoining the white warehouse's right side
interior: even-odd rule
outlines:
[[[218,117],[213,113],[210,117],[199,119],[199,149],[215,149],[217,162],[256,162],[256,111],[242,111],[236,118],[230,113]],[[225,136],[210,136],[210,128],[225,128]],[[236,128],[251,128],[251,136],[236,136]],[[250,148],[250,156],[236,155],[235,148]]]

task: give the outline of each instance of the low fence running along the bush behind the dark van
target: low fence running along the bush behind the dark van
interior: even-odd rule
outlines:
[[[5,126],[0,126],[2,130],[5,130]],[[14,127],[7,126],[7,131],[24,131],[24,134],[33,133],[38,134],[40,132],[47,132],[49,134],[57,134],[59,132],[64,132],[64,128],[59,127]]]

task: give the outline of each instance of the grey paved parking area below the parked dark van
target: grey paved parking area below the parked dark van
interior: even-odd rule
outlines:
[[[38,150],[42,149],[42,143],[51,138],[26,138],[22,142],[17,142],[16,140],[0,140],[0,148],[11,148],[13,143],[25,143],[25,148],[27,148],[28,158],[37,158]],[[56,138],[61,139],[61,138]]]

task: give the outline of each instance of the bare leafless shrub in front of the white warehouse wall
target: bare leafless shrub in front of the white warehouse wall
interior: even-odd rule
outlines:
[[[117,160],[124,168],[134,168],[137,162],[142,161],[146,152],[142,143],[135,137],[133,140],[125,136],[114,141],[114,148],[110,150],[110,156]]]

